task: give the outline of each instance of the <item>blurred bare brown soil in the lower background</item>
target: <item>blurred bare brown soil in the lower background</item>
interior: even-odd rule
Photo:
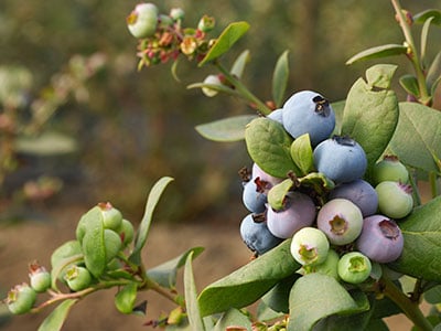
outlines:
[[[76,223],[86,210],[71,207],[69,211],[55,211],[50,221],[30,221],[11,226],[0,225],[0,289],[8,290],[13,285],[28,280],[28,264],[37,259],[50,266],[53,249],[67,239],[74,238]],[[232,225],[233,224],[233,225]],[[153,267],[171,259],[184,250],[203,246],[205,252],[194,260],[193,268],[198,290],[212,281],[232,273],[246,264],[250,253],[241,243],[237,225],[234,222],[209,224],[152,224],[148,244],[143,250],[147,267]],[[181,278],[180,278],[181,277]],[[179,280],[182,274],[179,275]],[[152,330],[142,324],[155,319],[162,311],[173,306],[155,293],[141,293],[140,299],[148,300],[147,317],[123,316],[114,306],[115,290],[94,293],[71,312],[63,330]],[[36,330],[51,310],[40,314],[13,317],[6,331]],[[411,324],[404,316],[388,319],[390,330],[410,330]]]

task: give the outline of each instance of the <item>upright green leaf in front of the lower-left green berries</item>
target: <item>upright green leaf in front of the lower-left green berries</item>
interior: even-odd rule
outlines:
[[[104,221],[99,206],[89,210],[80,220],[85,228],[82,242],[84,263],[87,269],[95,277],[103,275],[106,269],[106,245],[104,238]],[[78,223],[78,226],[80,226]]]

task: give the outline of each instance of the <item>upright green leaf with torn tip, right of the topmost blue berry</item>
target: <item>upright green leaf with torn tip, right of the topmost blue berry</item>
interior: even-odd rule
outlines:
[[[386,88],[396,68],[395,65],[370,67],[366,72],[367,83],[359,78],[347,95],[342,135],[363,147],[368,172],[388,146],[398,122],[397,96]]]

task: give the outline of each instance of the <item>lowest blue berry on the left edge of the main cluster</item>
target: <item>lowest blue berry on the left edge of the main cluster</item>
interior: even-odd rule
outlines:
[[[265,221],[256,222],[252,214],[248,214],[241,221],[240,236],[247,247],[258,255],[262,255],[282,242],[269,232]]]

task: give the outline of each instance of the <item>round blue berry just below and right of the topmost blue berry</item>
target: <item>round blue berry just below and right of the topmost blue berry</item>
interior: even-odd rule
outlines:
[[[365,151],[347,137],[335,136],[322,141],[313,156],[318,171],[336,183],[362,179],[367,168]]]

